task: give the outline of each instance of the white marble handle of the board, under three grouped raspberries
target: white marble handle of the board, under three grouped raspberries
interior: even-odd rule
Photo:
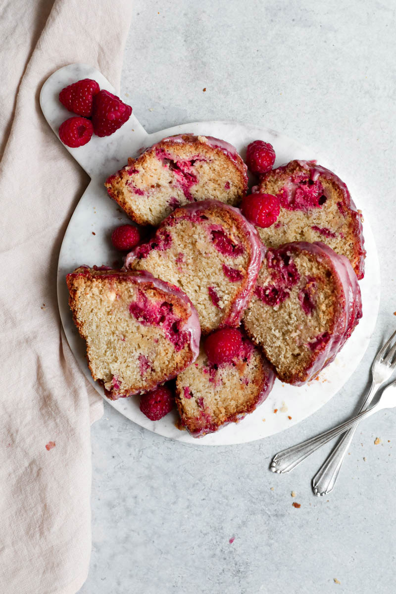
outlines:
[[[58,139],[59,126],[65,119],[73,116],[59,102],[59,91],[82,78],[93,78],[99,83],[100,89],[115,93],[115,89],[103,74],[87,64],[69,64],[56,70],[43,84],[40,91],[40,107]],[[91,178],[99,177],[104,181],[107,176],[126,165],[128,157],[136,156],[140,149],[148,146],[148,134],[132,112],[128,121],[111,136],[99,138],[93,135],[87,144],[77,149],[63,146]]]

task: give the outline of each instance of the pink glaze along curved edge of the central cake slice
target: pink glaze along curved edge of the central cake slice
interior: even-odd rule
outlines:
[[[251,298],[251,294],[258,277],[264,249],[254,225],[245,219],[239,208],[229,206],[229,204],[223,204],[217,200],[202,200],[201,202],[187,204],[186,206],[178,208],[163,220],[159,229],[157,230],[156,236],[151,242],[134,248],[131,252],[129,252],[129,254],[126,255],[123,269],[128,270],[128,268],[131,267],[137,258],[144,258],[147,256],[148,252],[151,251],[151,249],[155,249],[152,248],[151,245],[157,244],[157,235],[163,232],[164,227],[175,225],[179,222],[179,220],[185,219],[191,220],[195,223],[201,223],[201,217],[205,216],[204,211],[213,207],[219,208],[223,211],[228,211],[229,213],[232,213],[233,216],[237,216],[240,229],[242,229],[245,233],[246,239],[248,240],[251,247],[251,258],[246,270],[244,286],[233,302],[229,315],[227,315],[226,319],[222,323],[222,326],[239,326],[240,318],[248,306],[249,299]],[[182,211],[184,214],[183,216],[180,216],[180,212]],[[217,229],[215,229],[215,231],[216,230]],[[225,234],[223,233],[223,236],[221,236],[221,247],[223,247],[224,236]],[[216,237],[217,242],[220,241],[219,238],[220,236]]]

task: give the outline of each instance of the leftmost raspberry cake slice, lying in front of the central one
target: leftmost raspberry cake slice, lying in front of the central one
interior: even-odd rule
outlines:
[[[152,390],[197,358],[198,315],[177,287],[107,267],[76,268],[66,282],[92,377],[111,400]]]

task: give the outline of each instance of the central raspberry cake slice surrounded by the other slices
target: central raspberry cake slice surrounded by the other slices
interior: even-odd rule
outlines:
[[[261,264],[255,228],[237,208],[202,201],[178,208],[154,238],[125,258],[125,268],[148,270],[180,287],[199,315],[202,332],[239,326]]]

